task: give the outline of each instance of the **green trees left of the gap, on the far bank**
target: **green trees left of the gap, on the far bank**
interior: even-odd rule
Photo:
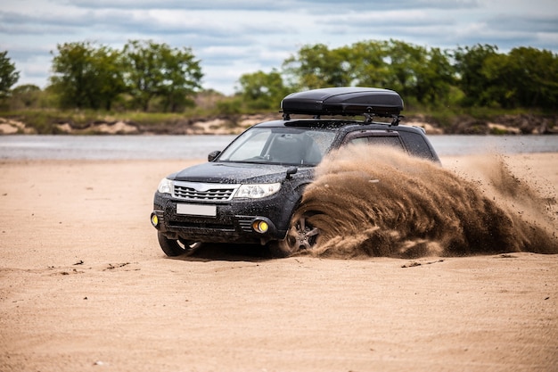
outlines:
[[[3,64],[17,80],[5,55]],[[91,42],[58,45],[51,70],[45,95],[25,85],[4,89],[4,96],[28,107],[181,112],[193,106],[203,77],[191,49],[151,40],[130,40],[121,50]]]

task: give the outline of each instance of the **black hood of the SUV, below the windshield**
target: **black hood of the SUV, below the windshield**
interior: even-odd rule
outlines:
[[[207,182],[219,184],[248,184],[280,182],[293,166],[237,162],[206,162],[183,169],[168,178],[176,181]],[[296,178],[310,178],[313,167],[300,167]]]

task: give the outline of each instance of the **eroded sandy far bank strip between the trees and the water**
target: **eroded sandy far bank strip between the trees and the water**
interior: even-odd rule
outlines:
[[[206,118],[180,118],[157,122],[134,120],[54,120],[41,125],[31,124],[21,117],[0,116],[0,136],[10,135],[84,135],[84,136],[157,136],[157,135],[239,135],[259,122],[281,120],[280,113],[222,115]],[[380,121],[382,118],[379,118]],[[386,123],[387,124],[387,123]],[[441,126],[426,115],[413,115],[401,120],[401,125],[423,128],[433,135],[556,135],[558,116],[502,115],[493,120],[456,117],[451,124]]]

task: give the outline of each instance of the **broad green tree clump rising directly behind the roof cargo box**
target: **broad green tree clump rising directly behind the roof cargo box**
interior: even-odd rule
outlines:
[[[450,54],[402,41],[367,41],[328,49],[305,45],[283,62],[286,74],[302,89],[385,87],[419,103],[445,102],[454,84]]]

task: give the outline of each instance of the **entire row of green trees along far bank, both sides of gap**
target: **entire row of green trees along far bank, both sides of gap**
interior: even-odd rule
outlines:
[[[12,89],[19,72],[0,54],[4,104],[62,109],[185,112],[201,93],[201,61],[189,48],[132,40],[121,50],[76,42],[58,45],[53,76],[41,91]],[[532,47],[500,53],[496,45],[453,50],[398,40],[363,41],[329,48],[304,45],[270,72],[244,74],[235,95],[221,97],[215,113],[276,111],[284,95],[319,87],[385,87],[407,107],[558,108],[558,56]],[[207,92],[205,92],[207,94]],[[6,101],[7,100],[7,101]]]

